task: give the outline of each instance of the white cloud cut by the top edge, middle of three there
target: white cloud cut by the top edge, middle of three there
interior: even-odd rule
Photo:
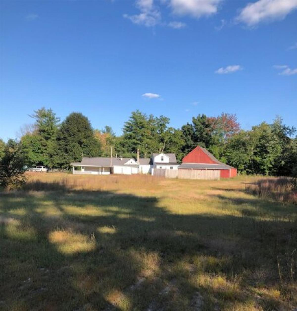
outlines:
[[[174,14],[196,18],[217,12],[220,0],[169,0]]]

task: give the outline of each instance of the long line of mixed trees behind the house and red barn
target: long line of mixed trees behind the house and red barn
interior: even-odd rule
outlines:
[[[243,174],[297,175],[296,129],[285,125],[279,116],[272,124],[262,122],[244,130],[235,114],[198,114],[181,128],[173,128],[165,116],[136,110],[124,123],[120,136],[110,126],[93,129],[81,113],[71,113],[61,122],[52,109],[42,107],[30,117],[35,122],[21,128],[19,140],[5,144],[0,139],[0,165],[12,146],[25,165],[69,169],[71,162],[81,161],[83,156],[110,156],[111,146],[114,156],[135,158],[139,149],[141,157],[172,152],[181,161],[199,145]]]

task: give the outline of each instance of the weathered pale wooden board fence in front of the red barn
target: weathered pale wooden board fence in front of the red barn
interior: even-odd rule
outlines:
[[[154,176],[179,179],[220,179],[219,169],[154,169]]]

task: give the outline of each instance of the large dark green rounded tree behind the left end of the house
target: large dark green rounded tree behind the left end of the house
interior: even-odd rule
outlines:
[[[55,161],[61,168],[83,156],[100,156],[100,142],[95,139],[90,121],[81,113],[73,112],[62,122],[57,134]]]

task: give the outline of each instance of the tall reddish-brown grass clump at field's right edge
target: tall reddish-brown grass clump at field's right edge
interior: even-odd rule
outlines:
[[[278,202],[297,204],[297,179],[277,177],[259,179],[246,186],[248,193]]]

